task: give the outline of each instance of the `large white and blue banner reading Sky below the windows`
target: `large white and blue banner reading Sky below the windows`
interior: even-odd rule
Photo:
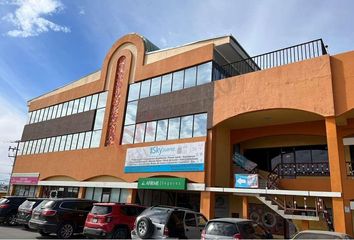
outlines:
[[[205,142],[129,148],[126,173],[204,171]]]

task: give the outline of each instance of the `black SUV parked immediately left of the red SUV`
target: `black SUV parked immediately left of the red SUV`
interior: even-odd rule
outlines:
[[[70,238],[74,233],[82,233],[93,203],[77,198],[43,200],[33,210],[29,227],[42,236],[55,233],[59,238]]]

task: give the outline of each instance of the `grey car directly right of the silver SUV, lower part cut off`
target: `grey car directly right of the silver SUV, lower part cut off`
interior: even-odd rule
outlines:
[[[272,234],[252,220],[217,218],[208,221],[202,239],[271,239]]]

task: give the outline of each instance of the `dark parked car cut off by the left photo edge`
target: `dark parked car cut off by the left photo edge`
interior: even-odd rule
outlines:
[[[26,197],[5,196],[0,198],[0,223],[16,224],[18,207],[26,201]]]

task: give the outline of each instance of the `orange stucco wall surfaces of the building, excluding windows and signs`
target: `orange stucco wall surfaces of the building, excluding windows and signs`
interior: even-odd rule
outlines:
[[[187,178],[189,183],[206,187],[233,187],[233,146],[243,148],[325,144],[328,147],[330,176],[281,179],[284,190],[340,192],[332,198],[335,230],[353,234],[352,213],[346,209],[354,200],[354,179],[347,176],[343,138],[354,134],[354,52],[299,61],[262,71],[211,82],[212,124],[206,136],[178,140],[121,145],[129,84],[158,75],[213,61],[215,44],[191,48],[149,64],[144,40],[130,34],[119,39],[103,61],[100,77],[94,81],[53,92],[29,102],[29,111],[108,91],[99,148],[18,156],[14,173],[38,172],[40,181],[65,177],[90,181],[110,176],[117,181],[134,183],[139,178],[168,176]],[[121,86],[113,145],[105,144],[113,101],[117,61],[126,59]],[[129,148],[205,142],[204,171],[125,173]],[[84,191],[84,190],[80,190]],[[135,190],[134,190],[135,191]],[[131,190],[133,202],[136,192]],[[134,197],[133,197],[134,193]],[[81,197],[84,192],[81,192]],[[214,216],[215,193],[205,189],[200,195],[200,210]],[[241,216],[249,216],[247,197],[242,198]],[[307,223],[303,223],[308,226]]]

